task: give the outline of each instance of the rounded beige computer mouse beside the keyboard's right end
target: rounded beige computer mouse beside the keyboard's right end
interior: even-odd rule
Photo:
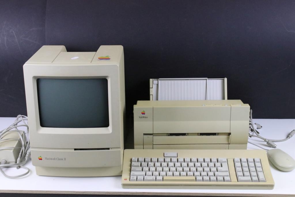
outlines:
[[[289,172],[295,168],[295,160],[281,149],[267,151],[269,161],[279,170]]]

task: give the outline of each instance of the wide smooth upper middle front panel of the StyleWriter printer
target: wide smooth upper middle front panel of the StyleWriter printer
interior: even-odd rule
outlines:
[[[154,107],[153,133],[230,133],[230,106]]]

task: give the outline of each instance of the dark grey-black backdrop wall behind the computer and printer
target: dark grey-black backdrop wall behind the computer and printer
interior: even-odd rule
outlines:
[[[228,79],[254,118],[295,118],[295,1],[0,1],[0,117],[26,114],[22,65],[42,45],[123,45],[127,117],[149,79]]]

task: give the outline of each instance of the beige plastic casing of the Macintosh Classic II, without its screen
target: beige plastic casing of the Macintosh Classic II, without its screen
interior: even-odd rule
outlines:
[[[109,60],[100,60],[99,57],[102,56],[108,56]],[[37,98],[37,79],[39,78],[107,79],[109,127],[82,129],[41,127]],[[95,168],[93,176],[120,174],[120,172],[107,170],[107,167],[122,169],[125,116],[124,81],[124,53],[123,47],[120,45],[102,45],[96,52],[66,52],[64,46],[42,46],[24,64],[33,165],[42,166],[42,169],[47,169],[47,167],[49,169],[61,167],[62,169],[38,170],[39,175],[50,175],[52,171],[52,174],[59,176],[56,172],[62,171],[60,176],[88,176],[91,174],[91,170],[86,168],[93,167]],[[84,150],[73,151],[73,149]],[[67,159],[63,162],[62,160],[54,162],[57,160],[50,159],[40,161],[38,160],[40,156]],[[80,168],[76,170],[75,167]],[[83,174],[84,172],[85,174]]]

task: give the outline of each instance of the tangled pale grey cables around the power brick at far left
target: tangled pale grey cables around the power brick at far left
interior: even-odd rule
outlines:
[[[18,127],[25,127],[26,131],[19,130]],[[3,137],[5,136],[4,134],[7,132],[17,132],[19,135],[19,139],[14,139],[14,138],[3,139]],[[16,120],[9,127],[0,131],[0,143],[5,141],[12,141],[12,140],[20,141],[22,146],[21,147],[4,147],[4,148],[1,148],[0,150],[20,149],[17,162],[9,163],[5,158],[2,158],[0,161],[0,172],[7,178],[19,178],[24,175],[27,175],[30,172],[29,168],[22,166],[28,161],[28,159],[30,159],[30,155],[31,155],[29,126],[28,126],[27,116],[18,115]],[[6,175],[5,172],[2,170],[2,168],[4,167],[16,167],[17,169],[24,168],[27,170],[27,172],[20,175],[16,175],[16,176],[9,176],[9,175]]]

